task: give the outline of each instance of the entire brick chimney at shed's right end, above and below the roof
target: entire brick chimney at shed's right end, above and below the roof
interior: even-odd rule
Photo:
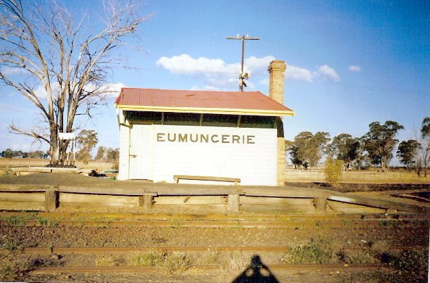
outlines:
[[[269,71],[269,97],[284,104],[284,84],[285,84],[285,61],[273,60],[270,62]],[[285,138],[282,117],[278,117],[278,138],[277,138],[277,160],[276,160],[276,185],[285,185]]]

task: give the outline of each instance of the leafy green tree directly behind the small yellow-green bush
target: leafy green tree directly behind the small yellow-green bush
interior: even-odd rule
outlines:
[[[336,159],[344,161],[345,169],[350,168],[359,155],[360,141],[350,134],[342,133],[333,137],[330,144],[330,153]]]

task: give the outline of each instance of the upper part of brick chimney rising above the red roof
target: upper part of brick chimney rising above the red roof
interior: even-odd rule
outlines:
[[[269,71],[269,97],[280,104],[284,104],[284,84],[285,84],[285,61],[273,60],[270,62]]]

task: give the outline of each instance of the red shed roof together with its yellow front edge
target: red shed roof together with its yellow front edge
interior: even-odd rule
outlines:
[[[294,111],[259,91],[185,91],[123,88],[117,109],[224,115],[292,116]]]

